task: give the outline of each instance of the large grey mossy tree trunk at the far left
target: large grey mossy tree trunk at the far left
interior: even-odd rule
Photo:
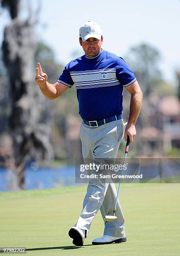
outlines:
[[[2,0],[12,18],[3,40],[3,61],[11,92],[10,130],[13,139],[13,166],[20,189],[25,188],[25,165],[28,160],[53,159],[50,143],[51,113],[45,113],[43,96],[34,83],[34,23],[18,18],[19,0]],[[42,118],[43,116],[43,118]]]

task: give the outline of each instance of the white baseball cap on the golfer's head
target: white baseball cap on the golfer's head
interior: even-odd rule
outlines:
[[[79,29],[79,37],[82,38],[83,42],[85,42],[90,37],[94,37],[101,40],[101,35],[101,27],[93,21],[85,22]]]

